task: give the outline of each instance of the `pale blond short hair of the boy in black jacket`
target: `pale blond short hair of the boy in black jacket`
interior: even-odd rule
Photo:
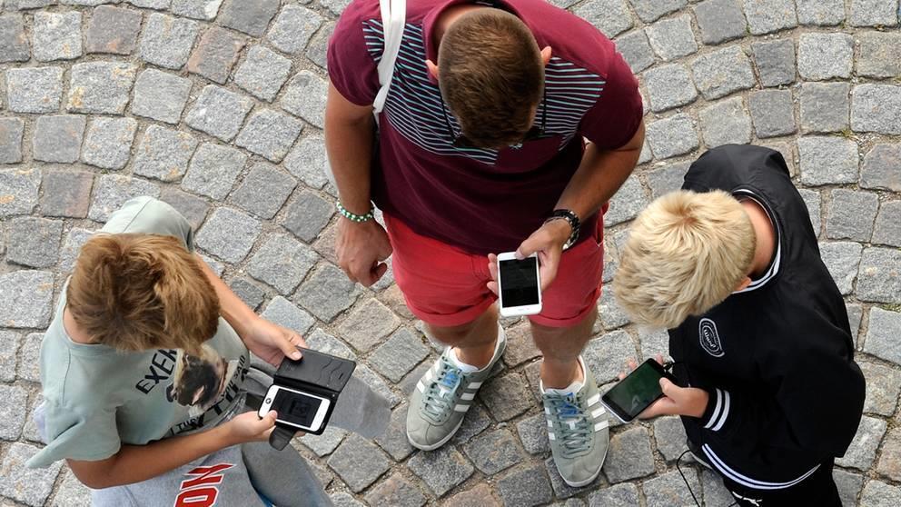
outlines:
[[[735,291],[756,247],[750,218],[732,195],[666,194],[631,225],[613,292],[636,323],[671,329]]]

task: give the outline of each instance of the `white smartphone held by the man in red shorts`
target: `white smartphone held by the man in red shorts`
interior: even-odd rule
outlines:
[[[498,255],[500,314],[504,317],[541,313],[538,256],[519,260],[513,252]]]

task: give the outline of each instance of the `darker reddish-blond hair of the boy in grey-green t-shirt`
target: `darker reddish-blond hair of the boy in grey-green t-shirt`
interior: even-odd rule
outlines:
[[[173,236],[94,236],[78,255],[65,295],[78,327],[119,351],[196,354],[219,325],[213,284]]]

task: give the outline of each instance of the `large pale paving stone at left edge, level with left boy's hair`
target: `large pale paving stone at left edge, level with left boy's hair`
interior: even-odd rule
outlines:
[[[46,327],[53,297],[53,273],[23,270],[0,274],[0,323],[10,328]]]

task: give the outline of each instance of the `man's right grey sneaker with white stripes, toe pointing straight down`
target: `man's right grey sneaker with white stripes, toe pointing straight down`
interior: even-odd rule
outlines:
[[[578,393],[546,393],[541,384],[548,419],[550,451],[563,481],[574,488],[594,481],[607,457],[610,430],[600,390],[579,357],[585,384]]]

